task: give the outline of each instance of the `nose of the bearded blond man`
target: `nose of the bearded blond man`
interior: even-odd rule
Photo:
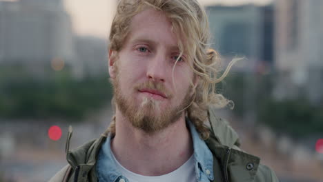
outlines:
[[[147,77],[153,81],[164,82],[166,80],[167,60],[164,54],[156,54],[148,63]]]

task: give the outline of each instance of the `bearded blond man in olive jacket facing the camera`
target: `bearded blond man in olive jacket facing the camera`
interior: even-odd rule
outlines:
[[[217,79],[208,45],[196,0],[119,1],[108,62],[115,116],[99,139],[67,147],[69,165],[51,181],[277,181],[215,117],[230,105],[215,93],[228,69]]]

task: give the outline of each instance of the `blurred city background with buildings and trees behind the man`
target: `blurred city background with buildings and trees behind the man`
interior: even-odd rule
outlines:
[[[323,1],[206,1],[225,68],[219,110],[242,149],[282,182],[323,181]],[[0,0],[0,181],[48,181],[110,123],[108,33],[116,0]],[[57,125],[62,136],[48,136]]]

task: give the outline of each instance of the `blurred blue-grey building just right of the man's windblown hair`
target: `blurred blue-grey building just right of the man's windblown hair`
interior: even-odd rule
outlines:
[[[208,6],[213,48],[222,57],[246,57],[244,71],[273,62],[273,6]]]

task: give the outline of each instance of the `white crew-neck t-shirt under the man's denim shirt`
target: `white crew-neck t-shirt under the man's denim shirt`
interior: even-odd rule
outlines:
[[[177,168],[177,170],[170,172],[168,174],[164,174],[161,176],[143,176],[140,174],[136,174],[134,172],[131,172],[130,170],[127,170],[122,166],[117,159],[115,158],[115,155],[112,154],[112,158],[117,164],[117,168],[119,168],[121,174],[125,176],[130,182],[196,182],[196,176],[195,176],[195,168],[194,168],[194,156],[190,156],[190,159],[186,161],[182,166]]]

